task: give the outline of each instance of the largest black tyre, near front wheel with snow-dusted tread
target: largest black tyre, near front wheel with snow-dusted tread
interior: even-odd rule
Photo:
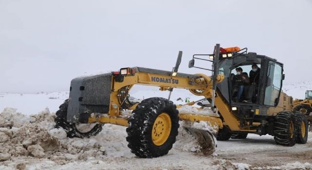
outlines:
[[[158,122],[155,120],[163,113],[166,113],[167,116],[169,115],[167,118],[171,119],[171,130],[163,131],[163,134],[159,133],[158,136],[160,135],[161,137],[164,134],[170,135],[163,144],[156,145],[157,143],[153,140],[153,136],[157,136],[156,127],[162,122],[157,125]],[[176,105],[167,99],[157,97],[145,99],[132,112],[128,123],[128,136],[126,139],[131,152],[142,158],[159,157],[167,154],[176,142],[177,130],[179,128],[178,110],[176,110]]]

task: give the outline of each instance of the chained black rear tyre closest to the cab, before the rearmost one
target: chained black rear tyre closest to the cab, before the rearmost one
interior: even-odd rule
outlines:
[[[293,146],[296,144],[297,128],[292,112],[280,112],[275,116],[274,140],[277,144]]]

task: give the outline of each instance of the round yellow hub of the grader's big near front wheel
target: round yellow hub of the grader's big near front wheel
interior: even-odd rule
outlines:
[[[171,132],[171,118],[167,113],[161,113],[156,118],[153,130],[152,130],[152,140],[156,146],[164,144]]]

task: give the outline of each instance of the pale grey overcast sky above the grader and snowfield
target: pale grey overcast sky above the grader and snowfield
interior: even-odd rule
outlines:
[[[312,0],[0,0],[0,92],[68,90],[72,78],[123,67],[171,70],[178,51],[181,72],[202,72],[188,61],[215,43],[276,58],[285,83],[311,80]]]

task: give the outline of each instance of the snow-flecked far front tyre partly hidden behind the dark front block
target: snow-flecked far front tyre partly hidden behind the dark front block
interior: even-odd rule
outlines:
[[[96,124],[90,131],[88,132],[79,132],[75,123],[67,122],[67,107],[68,107],[68,100],[66,100],[63,104],[59,106],[59,110],[56,113],[56,117],[54,119],[56,125],[55,128],[63,128],[67,133],[67,137],[79,137],[79,138],[86,138],[91,136],[98,135],[99,132],[102,130],[102,124]]]

